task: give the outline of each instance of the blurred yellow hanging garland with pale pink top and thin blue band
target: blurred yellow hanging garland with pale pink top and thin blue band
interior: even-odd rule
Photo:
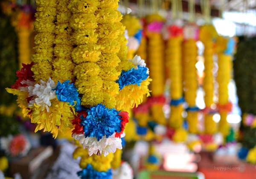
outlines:
[[[188,103],[187,121],[189,133],[198,133],[198,110],[195,105],[195,98],[197,95],[198,83],[197,72],[195,64],[197,62],[197,46],[198,27],[193,24],[188,24],[184,27],[184,42],[183,42],[183,84],[185,101]]]

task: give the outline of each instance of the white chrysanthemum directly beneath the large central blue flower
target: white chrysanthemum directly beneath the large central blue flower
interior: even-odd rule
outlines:
[[[115,153],[116,149],[122,149],[122,140],[118,137],[115,137],[115,133],[106,138],[103,136],[99,141],[96,137],[86,137],[84,134],[74,133],[73,138],[78,140],[84,148],[88,150],[89,156],[94,154],[103,154],[107,156],[109,153]],[[123,137],[123,136],[121,136]]]

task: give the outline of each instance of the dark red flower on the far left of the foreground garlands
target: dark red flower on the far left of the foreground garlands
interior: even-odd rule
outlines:
[[[34,73],[31,71],[32,65],[33,62],[31,62],[31,64],[22,64],[23,67],[21,70],[16,72],[18,79],[15,81],[15,84],[11,86],[12,89],[18,89],[18,87],[26,87],[27,84],[21,84],[22,81],[35,81],[33,78]]]

